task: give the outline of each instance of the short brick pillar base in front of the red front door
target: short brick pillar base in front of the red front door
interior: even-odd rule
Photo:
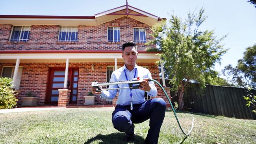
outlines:
[[[59,89],[58,107],[66,107],[69,104],[70,92],[69,89]]]

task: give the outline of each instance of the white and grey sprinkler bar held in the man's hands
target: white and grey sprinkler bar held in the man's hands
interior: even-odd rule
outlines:
[[[93,83],[91,84],[92,87],[96,88],[96,92],[101,92],[102,90],[114,90],[114,89],[139,89],[139,85],[135,85],[135,84],[139,84],[142,81],[150,81],[150,79],[144,79],[144,78],[134,78],[130,81],[114,81],[114,82],[109,82],[109,83],[98,83],[97,81],[93,81]],[[119,88],[112,88],[112,89],[100,89],[100,86],[103,85],[119,85],[119,84],[128,84],[129,87],[119,87]]]

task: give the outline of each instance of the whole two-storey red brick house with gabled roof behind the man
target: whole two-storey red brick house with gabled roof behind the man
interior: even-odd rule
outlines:
[[[135,41],[137,65],[159,81],[159,57],[145,42],[161,20],[127,3],[93,16],[0,15],[0,74],[13,78],[18,105],[27,92],[38,105],[83,105],[92,81],[107,82],[124,65],[122,43]],[[95,102],[112,105],[99,96]]]

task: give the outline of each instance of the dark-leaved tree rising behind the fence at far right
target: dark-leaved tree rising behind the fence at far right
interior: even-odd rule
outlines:
[[[237,66],[227,65],[223,75],[227,76],[237,87],[256,89],[256,44],[246,48],[243,59],[237,61]]]

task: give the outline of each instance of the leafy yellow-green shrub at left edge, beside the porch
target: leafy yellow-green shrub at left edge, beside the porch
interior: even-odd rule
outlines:
[[[0,109],[11,109],[17,105],[17,92],[11,85],[11,78],[0,77]]]

